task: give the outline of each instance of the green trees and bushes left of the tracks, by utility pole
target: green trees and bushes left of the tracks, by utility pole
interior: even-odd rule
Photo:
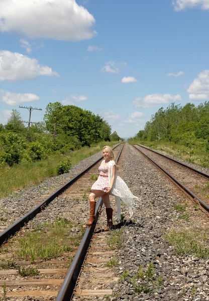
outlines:
[[[0,124],[0,168],[116,140],[120,137],[117,132],[111,134],[106,120],[74,105],[49,103],[44,121],[30,128],[24,125],[20,112],[13,109],[7,124]]]

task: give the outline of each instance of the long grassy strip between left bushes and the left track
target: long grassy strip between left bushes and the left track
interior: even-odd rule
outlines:
[[[60,160],[70,159],[72,166],[93,154],[101,151],[106,144],[113,146],[118,142],[103,141],[91,147],[84,146],[74,150],[68,155],[54,155],[48,159],[37,162],[22,162],[11,168],[0,170],[0,198],[12,194],[14,191],[21,190],[29,185],[38,185],[41,181],[57,176],[57,165]]]

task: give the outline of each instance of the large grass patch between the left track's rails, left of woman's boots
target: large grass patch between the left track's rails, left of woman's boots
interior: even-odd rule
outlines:
[[[80,227],[80,235],[70,237],[73,226],[70,221],[61,218],[53,224],[45,223],[42,228],[24,233],[17,239],[20,250],[16,255],[35,262],[36,259],[48,260],[56,258],[63,252],[72,251],[72,246],[79,245],[83,236],[83,230]]]

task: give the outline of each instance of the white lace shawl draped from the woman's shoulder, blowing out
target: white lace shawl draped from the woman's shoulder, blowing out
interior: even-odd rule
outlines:
[[[108,171],[108,180],[109,180],[109,185],[111,185],[111,179],[112,179],[112,174],[113,174],[113,167],[116,165],[115,161],[112,160],[109,162],[109,171]],[[139,201],[138,197],[135,197],[124,180],[119,177],[117,174],[116,170],[116,176],[115,176],[115,181],[113,184],[113,188],[111,190],[111,195],[114,195],[116,198],[116,204],[117,204],[117,217],[118,217],[118,222],[121,221],[121,200],[126,204],[126,206],[129,209],[130,217],[133,216],[134,213],[134,206],[135,206],[135,200]]]

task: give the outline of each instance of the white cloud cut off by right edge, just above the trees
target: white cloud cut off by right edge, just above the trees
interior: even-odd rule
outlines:
[[[209,94],[209,70],[200,72],[187,89],[189,94]]]

